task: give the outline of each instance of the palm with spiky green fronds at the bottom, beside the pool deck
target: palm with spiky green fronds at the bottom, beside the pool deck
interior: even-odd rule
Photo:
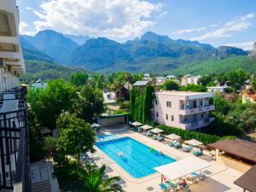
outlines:
[[[81,177],[83,189],[81,191],[90,192],[122,192],[122,187],[115,183],[119,181],[119,177],[103,178],[106,166],[103,165],[100,169],[92,169],[90,172],[85,172]]]

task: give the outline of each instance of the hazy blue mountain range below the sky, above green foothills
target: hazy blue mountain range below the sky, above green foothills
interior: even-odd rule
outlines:
[[[35,36],[21,36],[27,61],[45,61],[68,67],[83,67],[98,73],[130,71],[132,73],[177,72],[179,68],[206,61],[247,56],[243,49],[146,32],[140,38],[119,43],[108,38],[74,36],[51,30]]]

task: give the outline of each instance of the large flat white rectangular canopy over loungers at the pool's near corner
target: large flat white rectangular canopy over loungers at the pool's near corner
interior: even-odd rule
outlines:
[[[206,160],[201,160],[198,157],[190,156],[165,166],[154,167],[154,170],[160,172],[161,175],[167,177],[168,179],[173,180],[189,175],[191,172],[200,171],[208,166],[211,166],[211,164]]]

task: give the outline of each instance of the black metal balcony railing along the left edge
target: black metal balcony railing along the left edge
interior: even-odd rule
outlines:
[[[29,166],[29,131],[26,115],[26,87],[0,93],[14,94],[15,110],[0,113],[0,191],[31,191]]]

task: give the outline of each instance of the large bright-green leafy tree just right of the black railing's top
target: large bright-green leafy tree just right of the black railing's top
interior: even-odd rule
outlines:
[[[27,103],[40,126],[55,128],[58,116],[67,112],[78,99],[76,89],[62,79],[49,81],[42,89],[29,89]]]

